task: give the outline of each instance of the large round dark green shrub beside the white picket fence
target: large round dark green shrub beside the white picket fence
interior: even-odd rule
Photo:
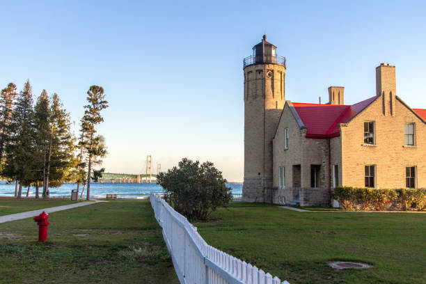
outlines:
[[[189,221],[206,220],[216,207],[227,207],[232,200],[230,187],[212,162],[184,158],[167,173],[160,173],[157,183],[164,188],[164,199]]]

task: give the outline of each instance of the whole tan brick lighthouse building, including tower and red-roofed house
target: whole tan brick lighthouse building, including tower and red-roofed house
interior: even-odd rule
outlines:
[[[426,187],[426,109],[397,97],[395,66],[379,65],[376,94],[356,104],[346,105],[345,88],[336,86],[326,104],[291,102],[285,59],[267,45],[265,37],[262,58],[253,54],[258,62],[244,61],[243,200],[328,206],[338,186]]]

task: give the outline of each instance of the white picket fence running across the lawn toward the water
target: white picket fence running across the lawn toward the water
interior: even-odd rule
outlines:
[[[187,218],[156,194],[150,201],[181,284],[289,284],[209,246]]]

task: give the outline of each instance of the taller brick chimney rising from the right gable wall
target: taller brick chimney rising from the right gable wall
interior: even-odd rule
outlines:
[[[395,66],[380,63],[376,68],[376,95],[381,96],[384,116],[395,116]]]

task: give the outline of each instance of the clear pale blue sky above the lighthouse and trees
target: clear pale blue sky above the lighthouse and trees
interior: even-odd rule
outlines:
[[[78,124],[90,85],[110,107],[99,132],[109,172],[213,161],[242,181],[242,59],[267,33],[287,58],[285,98],[345,103],[397,68],[397,95],[426,109],[424,1],[8,1],[1,3],[0,86],[58,93]],[[78,126],[76,126],[78,129]]]

